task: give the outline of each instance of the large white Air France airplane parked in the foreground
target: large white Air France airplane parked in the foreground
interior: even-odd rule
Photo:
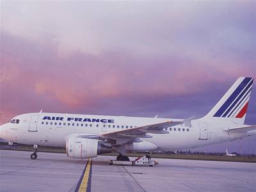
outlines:
[[[65,147],[77,159],[118,152],[117,160],[129,161],[127,151],[170,151],[203,147],[256,134],[256,125],[244,124],[253,78],[239,77],[214,108],[202,118],[143,118],[132,116],[26,113],[1,125],[6,141],[38,146]]]

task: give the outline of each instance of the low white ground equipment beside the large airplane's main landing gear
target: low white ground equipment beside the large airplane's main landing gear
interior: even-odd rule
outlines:
[[[154,166],[157,161],[151,159],[150,156],[143,156],[138,157],[134,161],[118,161],[118,160],[110,160],[109,164],[116,164],[116,165],[133,165],[133,166]]]

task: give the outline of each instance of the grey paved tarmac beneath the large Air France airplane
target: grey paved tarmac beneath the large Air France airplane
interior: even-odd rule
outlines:
[[[256,163],[155,159],[157,166],[109,165],[113,156],[70,159],[66,154],[0,150],[0,191],[254,191]],[[135,157],[131,157],[134,159]],[[83,179],[84,180],[84,179]]]

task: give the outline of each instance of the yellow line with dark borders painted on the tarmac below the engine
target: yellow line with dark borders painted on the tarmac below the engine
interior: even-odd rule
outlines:
[[[81,178],[76,186],[75,192],[91,191],[91,183],[92,183],[92,158],[88,159],[86,166],[83,170]]]

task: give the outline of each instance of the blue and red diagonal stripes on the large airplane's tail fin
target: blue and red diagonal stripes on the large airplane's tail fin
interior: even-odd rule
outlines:
[[[248,108],[248,100],[252,91],[252,83],[252,77],[245,77],[214,116],[243,118]]]

